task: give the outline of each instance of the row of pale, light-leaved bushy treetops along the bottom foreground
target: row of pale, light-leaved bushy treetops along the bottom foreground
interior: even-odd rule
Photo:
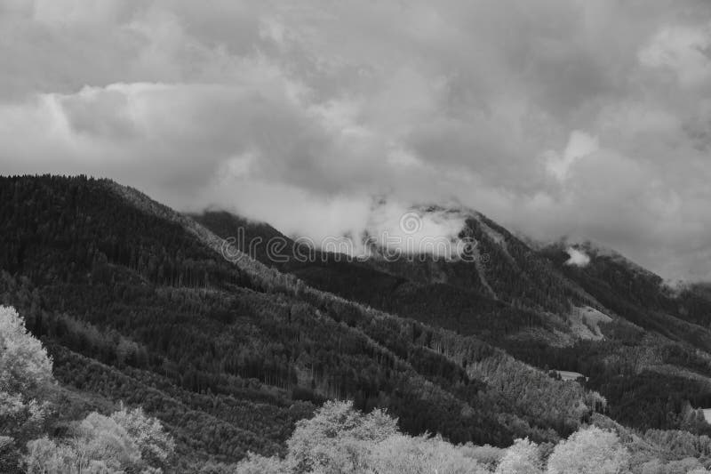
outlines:
[[[619,472],[709,472],[711,439],[683,432],[636,435],[595,415],[568,439],[537,444],[528,438],[512,446],[452,445],[441,436],[411,437],[380,409],[363,414],[352,402],[324,403],[313,418],[296,423],[284,455],[248,453],[241,462],[176,465],[175,442],[142,408],[119,406],[68,419],[60,406],[63,387],[52,359],[12,308],[0,307],[0,467],[28,473],[363,473],[401,474],[617,474]],[[64,422],[62,422],[64,420]],[[60,434],[58,434],[60,430]],[[48,433],[54,432],[52,437]],[[22,443],[25,448],[22,449]],[[681,456],[683,459],[676,459]]]

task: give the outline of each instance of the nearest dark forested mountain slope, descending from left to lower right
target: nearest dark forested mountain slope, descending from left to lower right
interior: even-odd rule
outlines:
[[[278,452],[325,398],[497,445],[555,440],[604,409],[476,337],[228,261],[212,231],[112,181],[0,178],[0,203],[0,303],[73,394],[60,418],[144,406],[177,439],[176,469]]]

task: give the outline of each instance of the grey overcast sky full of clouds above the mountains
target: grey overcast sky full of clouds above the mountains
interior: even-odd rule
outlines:
[[[315,238],[462,205],[711,279],[705,0],[0,0],[0,65],[2,174]]]

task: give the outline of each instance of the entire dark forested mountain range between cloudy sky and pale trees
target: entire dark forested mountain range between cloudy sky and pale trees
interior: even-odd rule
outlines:
[[[56,433],[143,406],[175,438],[176,471],[284,453],[328,398],[454,443],[555,442],[608,416],[635,436],[711,434],[693,409],[711,406],[701,290],[652,299],[656,280],[619,261],[571,268],[466,214],[475,261],[353,261],[113,181],[0,177],[0,304],[52,356]],[[292,257],[244,253],[256,237]]]

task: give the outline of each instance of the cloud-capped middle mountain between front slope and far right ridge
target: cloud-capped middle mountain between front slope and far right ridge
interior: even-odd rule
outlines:
[[[487,257],[485,262],[480,258],[443,261],[419,254],[387,260],[377,253],[360,261],[340,253],[299,248],[276,229],[229,213],[193,218],[220,237],[241,236],[236,238],[236,248],[308,285],[489,341],[529,333],[531,326],[545,328],[547,335],[557,338],[565,321],[555,313],[563,314],[568,308],[566,298],[577,298],[580,304],[593,301],[549,261],[480,214],[467,218],[460,237],[475,239],[477,251]],[[269,255],[268,242],[275,238],[285,243],[284,248]],[[250,252],[246,248],[250,243],[260,245],[252,245]],[[301,258],[309,253],[310,258]]]

